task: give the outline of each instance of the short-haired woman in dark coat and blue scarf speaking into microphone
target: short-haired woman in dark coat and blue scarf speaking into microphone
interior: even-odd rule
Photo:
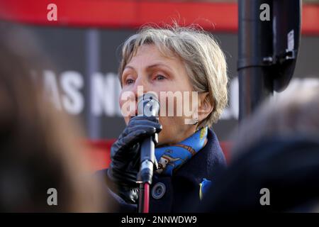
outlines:
[[[142,92],[152,91],[157,96],[160,92],[197,92],[198,99],[191,101],[191,124],[187,123],[189,116],[177,111],[173,116],[161,113],[159,118],[133,117],[134,109],[124,116],[127,126],[113,144],[111,165],[103,172],[109,192],[118,199],[121,211],[136,211],[140,141],[159,133],[155,155],[160,165],[150,188],[150,211],[190,210],[186,201],[199,201],[201,186],[211,183],[225,167],[218,139],[209,129],[228,101],[225,56],[208,33],[174,26],[142,28],[125,41],[122,57],[118,72],[122,109],[123,94],[134,94],[136,101],[140,86]],[[198,105],[194,105],[196,101]],[[161,101],[160,108],[168,110],[163,105]],[[180,105],[175,101],[174,110]]]

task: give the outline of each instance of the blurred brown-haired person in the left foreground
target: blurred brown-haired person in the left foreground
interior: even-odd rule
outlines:
[[[30,76],[33,57],[9,48],[16,45],[0,31],[0,211],[106,211],[79,128],[43,97]],[[47,202],[52,188],[57,206]]]

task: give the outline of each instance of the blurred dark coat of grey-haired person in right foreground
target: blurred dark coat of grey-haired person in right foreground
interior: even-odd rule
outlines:
[[[318,137],[273,135],[246,148],[218,176],[199,211],[318,212],[318,176]],[[261,189],[269,190],[269,206],[260,202]]]

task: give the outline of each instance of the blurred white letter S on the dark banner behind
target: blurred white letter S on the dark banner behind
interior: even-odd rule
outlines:
[[[83,77],[79,72],[67,71],[61,74],[61,87],[65,92],[62,103],[69,114],[80,114],[84,109],[84,98],[79,92],[83,85]]]

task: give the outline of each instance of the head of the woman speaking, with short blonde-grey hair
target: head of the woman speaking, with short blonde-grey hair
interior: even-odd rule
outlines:
[[[155,92],[163,126],[159,144],[180,142],[218,121],[228,100],[228,77],[225,56],[212,35],[179,26],[144,27],[125,41],[122,57],[120,106],[123,110],[128,92],[136,101],[139,87],[143,93]],[[174,109],[173,116],[169,109]],[[124,116],[126,123],[130,117]]]

